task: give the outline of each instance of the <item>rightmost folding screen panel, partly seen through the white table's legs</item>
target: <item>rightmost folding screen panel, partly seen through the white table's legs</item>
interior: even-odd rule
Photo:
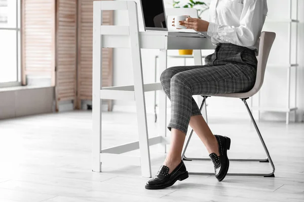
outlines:
[[[92,100],[93,0],[79,0],[78,10],[78,108]],[[113,24],[113,12],[103,12],[103,24]],[[102,50],[102,85],[112,85],[112,49]],[[111,100],[108,102],[111,110]]]

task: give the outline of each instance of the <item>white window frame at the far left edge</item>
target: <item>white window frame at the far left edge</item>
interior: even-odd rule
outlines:
[[[21,53],[21,25],[22,25],[22,16],[21,16],[21,1],[16,0],[16,26],[11,27],[0,27],[0,30],[13,30],[16,31],[16,61],[17,61],[17,80],[10,82],[0,82],[1,87],[13,87],[21,85],[21,64],[22,64],[22,53]],[[20,24],[19,24],[20,23]],[[19,27],[20,25],[20,27]]]

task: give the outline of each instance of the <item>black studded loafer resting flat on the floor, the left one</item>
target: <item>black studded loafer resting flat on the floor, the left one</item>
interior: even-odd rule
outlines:
[[[161,166],[159,172],[153,179],[147,181],[146,189],[163,189],[172,186],[177,180],[182,181],[189,177],[188,171],[183,161],[169,174],[169,168],[167,166]]]

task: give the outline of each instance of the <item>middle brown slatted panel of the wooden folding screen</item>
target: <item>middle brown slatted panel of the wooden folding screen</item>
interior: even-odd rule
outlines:
[[[77,0],[56,1],[56,110],[77,93]]]

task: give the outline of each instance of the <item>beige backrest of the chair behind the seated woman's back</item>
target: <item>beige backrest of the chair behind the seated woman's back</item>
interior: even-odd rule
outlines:
[[[259,42],[259,54],[257,59],[258,62],[257,62],[256,80],[253,88],[251,89],[255,91],[254,94],[258,92],[262,87],[267,61],[269,58],[272,45],[275,41],[275,38],[276,38],[276,33],[274,32],[263,31],[261,33],[260,42]]]

